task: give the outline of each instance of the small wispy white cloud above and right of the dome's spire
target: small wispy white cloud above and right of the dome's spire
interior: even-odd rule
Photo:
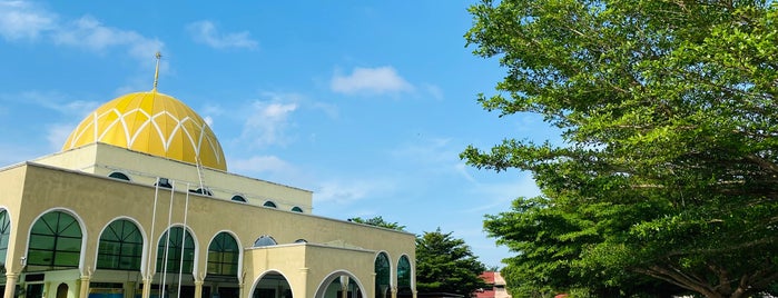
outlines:
[[[255,49],[257,41],[250,38],[248,31],[234,33],[219,33],[211,21],[197,21],[187,26],[195,41],[208,44],[216,49],[246,48]]]

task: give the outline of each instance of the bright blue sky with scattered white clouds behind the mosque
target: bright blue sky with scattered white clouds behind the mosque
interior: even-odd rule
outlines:
[[[467,146],[545,140],[540,118],[475,101],[504,69],[474,57],[470,1],[0,0],[0,165],[60,150],[91,110],[152,87],[210,123],[230,171],[314,191],[314,213],[453,231],[481,261],[486,213],[528,173],[464,165]]]

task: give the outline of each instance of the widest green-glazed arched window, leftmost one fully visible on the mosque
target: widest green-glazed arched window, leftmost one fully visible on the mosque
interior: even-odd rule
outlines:
[[[30,231],[27,266],[35,270],[78,268],[81,227],[72,216],[52,211],[40,217]]]

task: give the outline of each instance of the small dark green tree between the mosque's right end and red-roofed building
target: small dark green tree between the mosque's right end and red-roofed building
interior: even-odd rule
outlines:
[[[470,297],[483,288],[479,276],[486,267],[464,240],[441,229],[416,237],[416,289],[421,292],[451,292]]]

